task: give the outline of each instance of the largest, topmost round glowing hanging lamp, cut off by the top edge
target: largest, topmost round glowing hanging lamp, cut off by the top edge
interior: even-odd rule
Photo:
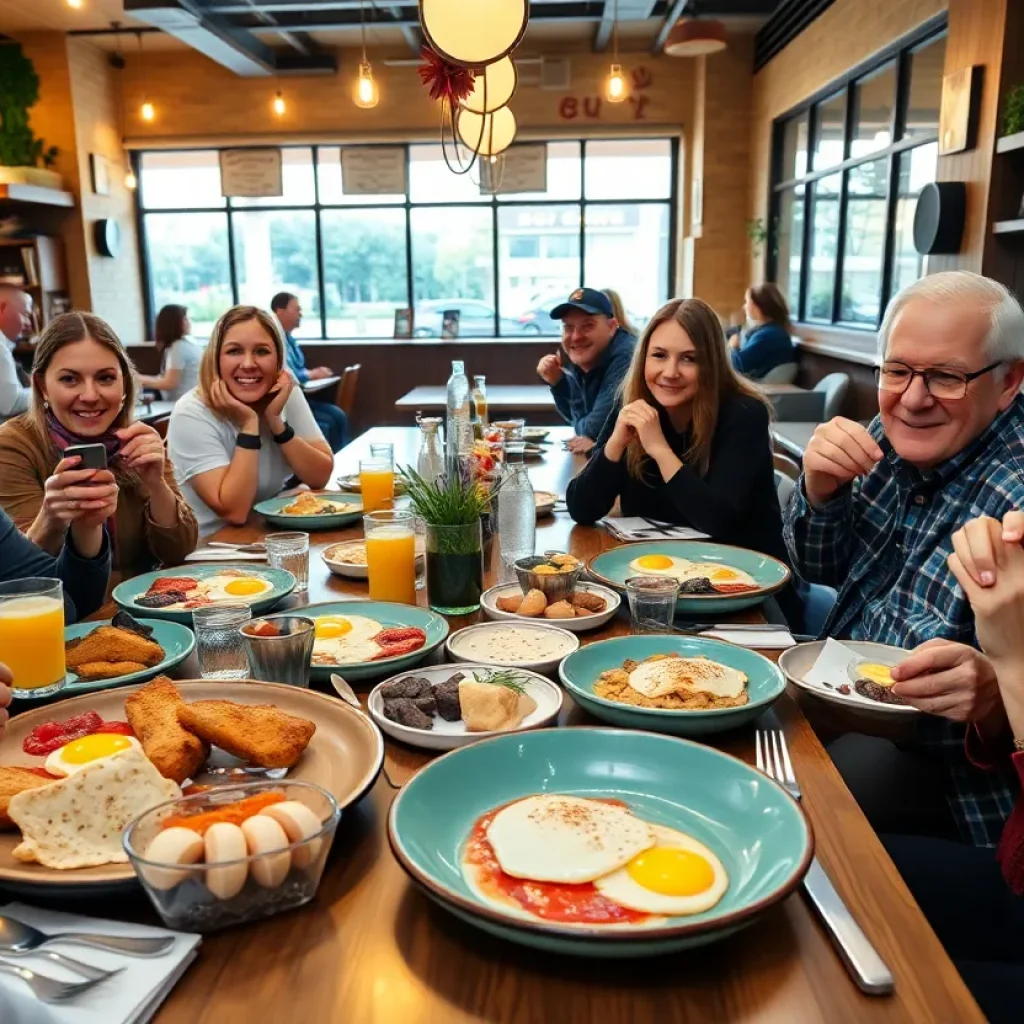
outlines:
[[[420,0],[420,26],[430,48],[464,68],[508,56],[528,22],[528,0]]]

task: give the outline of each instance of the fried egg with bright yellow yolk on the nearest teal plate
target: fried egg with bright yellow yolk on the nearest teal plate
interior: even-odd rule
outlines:
[[[695,839],[647,826],[654,845],[594,881],[598,892],[622,906],[647,913],[690,914],[710,910],[729,888],[729,876],[711,850]]]

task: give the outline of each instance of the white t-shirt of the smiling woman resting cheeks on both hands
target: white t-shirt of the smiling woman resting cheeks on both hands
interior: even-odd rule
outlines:
[[[299,388],[293,388],[288,396],[282,419],[295,430],[296,436],[310,441],[324,441],[324,434],[309,411],[309,402]],[[273,498],[292,475],[292,468],[288,465],[281,445],[274,443],[270,428],[262,419],[259,434],[263,446],[259,450],[254,505]],[[167,455],[174,466],[174,478],[181,494],[199,520],[201,536],[220,529],[225,521],[196,494],[196,488],[189,481],[201,473],[229,466],[238,436],[239,428],[230,421],[215,416],[203,403],[198,390],[194,389],[184,395],[171,413],[167,426]]]

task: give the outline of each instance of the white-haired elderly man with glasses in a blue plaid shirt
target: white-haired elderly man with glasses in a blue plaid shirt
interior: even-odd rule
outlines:
[[[797,571],[839,591],[823,635],[912,651],[894,692],[926,714],[899,745],[829,753],[878,830],[994,846],[1016,783],[971,752],[1006,714],[946,559],[971,519],[1024,507],[1024,311],[996,282],[933,274],[892,300],[879,354],[880,415],[815,430],[784,534]]]

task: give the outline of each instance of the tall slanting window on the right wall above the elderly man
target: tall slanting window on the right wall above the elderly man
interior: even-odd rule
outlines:
[[[913,248],[935,180],[946,37],[934,31],[775,123],[768,275],[795,319],[873,330],[926,272]]]

